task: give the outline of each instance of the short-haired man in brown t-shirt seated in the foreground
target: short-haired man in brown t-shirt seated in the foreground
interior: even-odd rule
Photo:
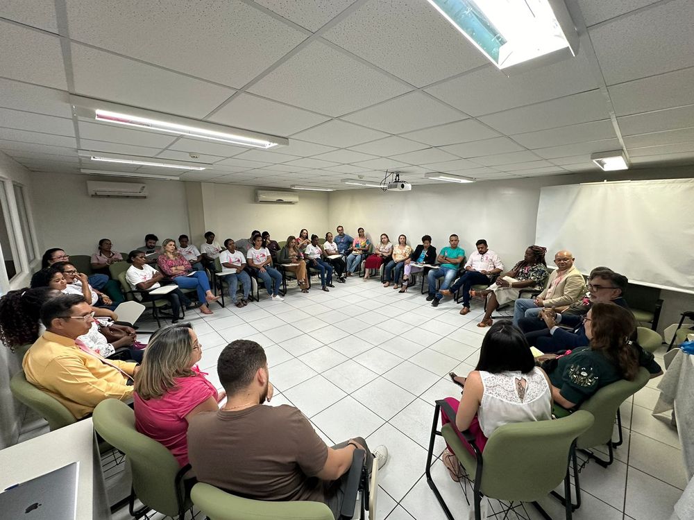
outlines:
[[[250,499],[328,504],[335,517],[344,499],[355,449],[379,467],[388,451],[371,453],[361,437],[328,447],[294,406],[263,406],[273,388],[265,352],[253,341],[227,345],[217,362],[226,404],[199,413],[188,426],[188,456],[199,481]]]

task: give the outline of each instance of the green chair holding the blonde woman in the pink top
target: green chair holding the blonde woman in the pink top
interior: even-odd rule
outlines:
[[[190,466],[181,468],[167,448],[139,433],[135,429],[135,412],[118,399],[101,401],[94,409],[92,420],[96,433],[126,455],[133,476],[130,514],[140,518],[153,509],[183,520],[185,511],[192,506],[183,483],[183,475]],[[137,511],[136,498],[144,504]]]

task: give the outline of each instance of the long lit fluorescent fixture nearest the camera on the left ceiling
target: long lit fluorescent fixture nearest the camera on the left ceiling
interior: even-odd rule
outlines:
[[[126,125],[183,137],[250,146],[251,148],[272,148],[273,146],[287,146],[289,144],[289,139],[286,137],[251,132],[250,130],[108,103],[83,96],[70,96],[70,103],[72,103],[77,116],[94,119],[101,123]]]

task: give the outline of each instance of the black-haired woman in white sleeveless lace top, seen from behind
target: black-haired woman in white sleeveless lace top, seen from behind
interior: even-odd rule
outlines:
[[[552,418],[552,396],[547,375],[535,366],[530,345],[509,321],[494,324],[482,340],[480,361],[467,378],[450,374],[453,383],[464,388],[461,399],[447,397],[455,417],[441,414],[441,423],[455,420],[459,431],[469,430],[475,444],[484,451],[487,439],[505,424],[545,421]],[[465,447],[473,454],[472,447]],[[443,465],[456,482],[462,474],[450,447],[443,453]]]

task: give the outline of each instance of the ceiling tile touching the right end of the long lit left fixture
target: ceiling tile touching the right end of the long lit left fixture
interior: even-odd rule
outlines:
[[[233,98],[209,118],[215,123],[279,136],[306,130],[328,119],[330,118],[326,116],[244,93]]]

